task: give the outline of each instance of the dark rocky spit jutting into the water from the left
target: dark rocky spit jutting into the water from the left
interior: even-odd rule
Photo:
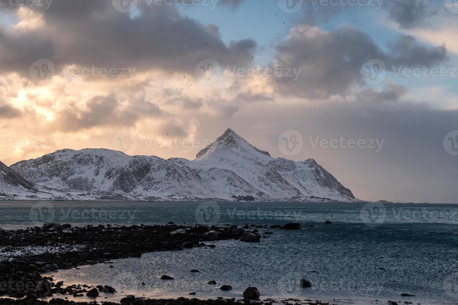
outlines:
[[[23,298],[8,300],[13,302],[11,304],[41,304],[37,298],[54,294],[86,295],[91,289],[95,294],[98,290],[110,288],[89,287],[83,283],[64,288],[62,282],[55,283],[52,277],[42,274],[109,263],[111,259],[141,257],[142,253],[152,251],[213,248],[216,245],[211,242],[218,240],[259,242],[261,237],[268,238],[259,235],[256,227],[264,228],[262,225],[245,225],[243,229],[229,225],[187,226],[169,222],[167,225],[84,227],[49,223],[21,230],[0,229],[0,296]],[[31,303],[32,300],[38,303]]]

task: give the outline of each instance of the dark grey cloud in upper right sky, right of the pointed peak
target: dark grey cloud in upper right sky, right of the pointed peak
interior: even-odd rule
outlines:
[[[414,37],[401,35],[384,52],[373,39],[355,27],[342,25],[332,32],[300,25],[278,44],[276,63],[283,69],[301,70],[300,78],[275,77],[277,91],[285,95],[327,98],[346,96],[354,86],[366,85],[360,70],[365,61],[382,59],[387,70],[438,65],[445,62],[445,47],[425,47]],[[304,80],[305,79],[305,80]],[[288,86],[286,86],[288,85]],[[328,92],[329,91],[329,92]]]

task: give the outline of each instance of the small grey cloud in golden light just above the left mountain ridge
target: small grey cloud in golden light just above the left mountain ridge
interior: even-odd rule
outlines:
[[[68,105],[56,113],[55,128],[62,131],[78,131],[100,126],[130,127],[141,118],[160,118],[167,115],[148,101],[131,102],[121,107],[114,95],[95,96],[85,104],[84,110]]]

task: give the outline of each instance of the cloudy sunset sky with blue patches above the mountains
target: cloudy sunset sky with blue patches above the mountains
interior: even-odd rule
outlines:
[[[232,128],[363,200],[458,203],[457,28],[456,0],[0,0],[0,161]]]

